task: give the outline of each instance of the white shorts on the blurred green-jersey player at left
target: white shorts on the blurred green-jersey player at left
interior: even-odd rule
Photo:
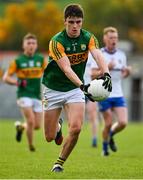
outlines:
[[[17,105],[21,108],[32,107],[34,112],[42,112],[42,101],[30,97],[21,97],[17,100]]]

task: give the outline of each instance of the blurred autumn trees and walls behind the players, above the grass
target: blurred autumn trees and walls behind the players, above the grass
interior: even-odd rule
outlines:
[[[123,89],[131,121],[143,121],[143,1],[142,0],[0,0],[0,77],[22,49],[23,36],[34,33],[39,50],[48,52],[50,38],[63,29],[63,9],[80,3],[85,11],[84,28],[94,33],[100,46],[106,26],[119,30],[120,43],[128,55],[133,74]],[[0,118],[19,118],[16,87],[0,81]]]

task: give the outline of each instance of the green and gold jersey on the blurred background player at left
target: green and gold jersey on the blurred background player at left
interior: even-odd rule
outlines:
[[[26,87],[18,87],[17,97],[31,97],[41,99],[41,77],[47,62],[40,54],[29,57],[24,54],[10,63],[8,74],[16,73],[18,80],[25,79]]]

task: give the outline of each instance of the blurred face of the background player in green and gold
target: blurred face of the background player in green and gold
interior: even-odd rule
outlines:
[[[33,55],[37,50],[37,40],[36,39],[25,39],[23,42],[24,53],[27,55]]]

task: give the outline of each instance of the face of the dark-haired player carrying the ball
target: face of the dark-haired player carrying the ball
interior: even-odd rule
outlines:
[[[65,28],[69,37],[76,38],[80,35],[82,22],[83,22],[83,19],[79,17],[66,18],[64,24],[65,24]]]

